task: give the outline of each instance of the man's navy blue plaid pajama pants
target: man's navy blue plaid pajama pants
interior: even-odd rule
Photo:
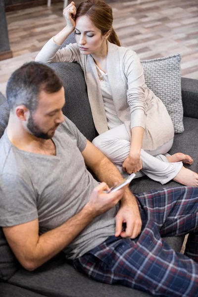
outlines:
[[[154,296],[198,297],[198,187],[136,195],[143,222],[135,240],[110,236],[74,260],[90,278],[122,284]],[[190,233],[185,254],[162,237]]]

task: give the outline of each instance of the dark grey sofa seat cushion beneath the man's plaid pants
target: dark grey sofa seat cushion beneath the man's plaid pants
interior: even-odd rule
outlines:
[[[9,279],[9,284],[48,297],[150,297],[127,287],[91,280],[76,271],[65,257],[52,259],[34,272],[21,268]]]

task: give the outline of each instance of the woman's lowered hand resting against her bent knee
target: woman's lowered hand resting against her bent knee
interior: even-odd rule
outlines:
[[[127,173],[136,173],[143,168],[140,154],[129,154],[122,164],[123,171]]]

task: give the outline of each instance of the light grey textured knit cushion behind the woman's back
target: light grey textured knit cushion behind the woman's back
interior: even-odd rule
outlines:
[[[141,61],[146,84],[166,106],[175,133],[184,131],[180,61],[180,54]]]

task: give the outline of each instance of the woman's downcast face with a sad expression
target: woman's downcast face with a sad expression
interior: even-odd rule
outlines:
[[[86,15],[76,19],[75,39],[82,54],[99,52],[105,44],[104,37],[105,35],[101,35],[101,31],[95,27]]]

